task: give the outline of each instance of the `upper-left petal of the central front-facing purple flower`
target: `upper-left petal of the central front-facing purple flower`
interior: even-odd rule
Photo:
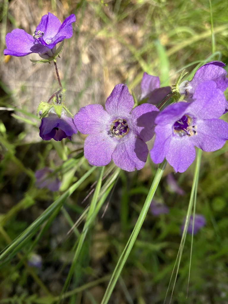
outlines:
[[[74,123],[82,134],[108,132],[112,119],[102,105],[86,105],[74,115]]]

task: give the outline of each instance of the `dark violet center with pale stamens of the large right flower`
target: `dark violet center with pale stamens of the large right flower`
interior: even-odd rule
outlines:
[[[193,136],[196,135],[196,126],[192,125],[192,118],[188,115],[184,115],[176,121],[173,125],[174,134],[179,135],[180,137],[188,135]]]

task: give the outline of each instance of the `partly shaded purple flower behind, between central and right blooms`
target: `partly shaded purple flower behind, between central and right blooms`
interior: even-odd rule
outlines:
[[[143,79],[141,81],[141,91],[142,94],[140,96],[140,100],[148,98],[147,103],[156,105],[171,92],[171,88],[160,88],[159,77],[152,76],[144,72]]]

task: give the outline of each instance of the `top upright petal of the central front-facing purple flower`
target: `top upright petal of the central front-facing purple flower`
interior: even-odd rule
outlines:
[[[116,85],[105,102],[106,111],[114,119],[127,119],[134,105],[134,99],[123,84]]]

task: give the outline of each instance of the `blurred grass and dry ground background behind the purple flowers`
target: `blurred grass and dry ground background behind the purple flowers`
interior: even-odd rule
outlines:
[[[74,34],[58,60],[66,102],[73,114],[89,103],[104,105],[113,87],[127,83],[140,95],[143,72],[174,85],[182,71],[205,61],[228,62],[226,1],[212,0],[2,0],[0,41],[0,250],[17,238],[60,194],[90,169],[81,158],[83,136],[72,142],[41,141],[38,103],[57,88],[54,66],[33,64],[36,54],[4,57],[5,35],[14,28],[32,34],[47,12],[62,22],[76,15]],[[188,75],[191,77],[193,74]],[[216,130],[215,130],[216,132]],[[188,284],[191,236],[187,235],[172,303],[228,302],[228,146],[203,153],[196,212],[206,226],[195,236]],[[48,166],[60,192],[39,189],[34,172]],[[148,159],[137,172],[118,178],[83,242],[62,303],[100,303],[111,273],[136,223],[156,172]],[[105,168],[108,181],[115,168]],[[194,164],[175,174],[184,195],[172,192],[167,166],[155,198],[169,213],[150,212],[140,230],[109,303],[163,303],[181,240]],[[0,303],[56,303],[67,279],[100,169],[78,185],[61,206],[0,264]],[[76,227],[71,229],[76,222]],[[34,263],[35,257],[42,265]],[[186,299],[188,289],[188,298]]]

